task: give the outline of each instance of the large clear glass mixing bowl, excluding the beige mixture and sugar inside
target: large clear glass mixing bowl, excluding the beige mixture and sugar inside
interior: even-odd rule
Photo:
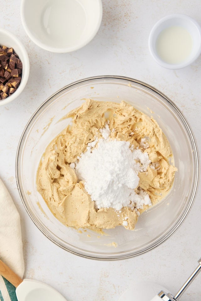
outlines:
[[[134,231],[122,226],[101,235],[66,227],[51,213],[36,189],[36,172],[50,141],[70,122],[63,118],[84,98],[132,104],[153,116],[169,140],[178,171],[170,193],[144,212]],[[98,76],[73,82],[48,98],[33,114],[21,136],[16,178],[24,206],[36,226],[63,249],[99,260],[125,259],[146,253],[167,240],[182,224],[193,205],[199,180],[199,156],[193,132],[177,106],[163,93],[138,80]],[[117,247],[114,247],[114,243]],[[112,244],[113,243],[113,244]]]

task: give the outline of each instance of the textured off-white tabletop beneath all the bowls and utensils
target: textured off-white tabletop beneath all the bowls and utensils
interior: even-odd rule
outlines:
[[[38,106],[64,85],[94,75],[133,77],[158,88],[179,106],[201,148],[201,56],[192,66],[173,71],[158,66],[148,51],[155,22],[185,13],[201,24],[200,0],[103,0],[103,20],[95,38],[70,54],[55,54],[34,45],[22,28],[19,0],[1,0],[0,27],[12,30],[30,57],[30,77],[14,102],[0,107],[0,177],[19,210],[23,229],[25,277],[52,285],[68,301],[116,301],[135,281],[154,281],[173,293],[201,256],[200,187],[193,208],[179,230],[163,245],[137,258],[98,262],[60,249],[34,225],[20,200],[15,155],[20,135]],[[201,276],[181,297],[197,301]]]

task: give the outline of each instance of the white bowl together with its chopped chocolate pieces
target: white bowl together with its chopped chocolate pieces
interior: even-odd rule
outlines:
[[[24,45],[0,28],[0,106],[19,96],[29,77],[29,57]]]

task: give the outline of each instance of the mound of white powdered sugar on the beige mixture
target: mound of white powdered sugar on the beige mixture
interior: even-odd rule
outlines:
[[[138,195],[134,192],[139,183],[138,172],[146,171],[151,163],[148,154],[140,149],[131,150],[127,141],[108,139],[106,130],[103,133],[105,139],[89,143],[87,151],[75,164],[75,173],[84,181],[95,207],[120,210],[131,202],[133,208],[150,205],[147,193],[143,191]]]

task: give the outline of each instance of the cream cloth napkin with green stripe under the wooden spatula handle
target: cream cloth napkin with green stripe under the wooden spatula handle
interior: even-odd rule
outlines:
[[[24,274],[22,236],[19,213],[0,179],[0,259],[19,277]],[[0,276],[0,300],[14,301],[15,288]]]

